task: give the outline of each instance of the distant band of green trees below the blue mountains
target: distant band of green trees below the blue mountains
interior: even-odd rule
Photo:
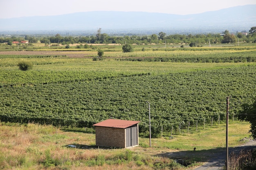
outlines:
[[[0,43],[28,40],[30,43],[59,43],[59,44],[75,44],[75,43],[87,43],[87,44],[217,44],[217,43],[234,43],[234,42],[256,42],[256,26],[253,26],[248,33],[247,31],[229,33],[228,30],[218,34],[196,34],[196,35],[180,35],[173,34],[167,35],[164,32],[152,35],[124,35],[124,36],[111,36],[106,33],[101,33],[101,28],[97,30],[95,35],[88,36],[61,36],[56,34],[55,36],[36,38],[35,36],[25,35],[25,37],[10,37],[0,38]]]

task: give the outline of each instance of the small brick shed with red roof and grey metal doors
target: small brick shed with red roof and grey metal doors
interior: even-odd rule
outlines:
[[[128,148],[139,145],[139,121],[107,119],[95,126],[96,145]]]

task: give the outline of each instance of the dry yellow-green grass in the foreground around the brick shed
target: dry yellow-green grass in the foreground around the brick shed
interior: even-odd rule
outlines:
[[[239,129],[239,130],[238,130]],[[0,123],[0,168],[2,170],[188,170],[201,165],[211,154],[225,150],[225,122],[194,128],[189,133],[173,134],[169,139],[139,138],[131,149],[98,148],[93,129],[56,128],[38,124]],[[249,124],[230,121],[229,147],[243,144]],[[214,142],[213,142],[214,141]],[[77,148],[68,148],[74,145]],[[193,148],[196,147],[196,151]],[[168,153],[178,156],[163,157]],[[193,157],[189,156],[193,155]],[[174,159],[184,159],[180,166]]]

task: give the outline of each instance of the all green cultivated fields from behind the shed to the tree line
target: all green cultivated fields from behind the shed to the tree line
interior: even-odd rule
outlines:
[[[227,48],[107,51],[106,59],[97,62],[92,61],[96,52],[78,58],[0,53],[0,120],[92,127],[109,118],[130,119],[141,121],[140,132],[147,132],[150,102],[157,136],[161,130],[180,132],[224,120],[227,96],[230,117],[236,118],[242,105],[256,98],[255,47]],[[141,58],[143,53],[148,57]],[[149,60],[166,56],[166,62]],[[200,58],[203,62],[189,62]],[[218,62],[207,62],[213,59]],[[33,62],[34,68],[19,71],[20,60]]]

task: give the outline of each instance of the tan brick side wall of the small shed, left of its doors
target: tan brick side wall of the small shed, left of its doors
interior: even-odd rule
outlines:
[[[116,148],[125,148],[125,129],[95,127],[96,145]]]

